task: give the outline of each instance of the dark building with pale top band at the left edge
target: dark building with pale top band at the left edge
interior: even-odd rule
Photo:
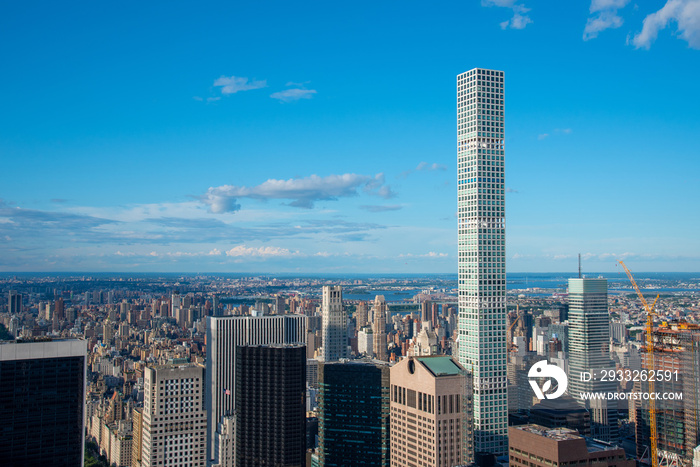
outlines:
[[[0,342],[0,463],[82,466],[83,340]]]

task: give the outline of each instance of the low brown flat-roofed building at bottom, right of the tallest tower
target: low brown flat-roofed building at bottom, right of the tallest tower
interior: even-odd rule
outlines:
[[[584,438],[576,430],[520,425],[510,427],[508,434],[511,467],[635,467],[621,447]]]

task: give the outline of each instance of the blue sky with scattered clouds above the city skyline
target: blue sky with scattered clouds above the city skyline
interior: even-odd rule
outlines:
[[[10,2],[0,271],[455,272],[505,71],[507,270],[700,271],[700,1]]]

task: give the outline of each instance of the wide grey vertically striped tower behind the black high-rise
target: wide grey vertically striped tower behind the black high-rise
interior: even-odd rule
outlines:
[[[236,347],[305,344],[308,317],[210,316],[207,318],[207,452],[215,459],[216,430],[222,417],[233,415],[236,391]]]

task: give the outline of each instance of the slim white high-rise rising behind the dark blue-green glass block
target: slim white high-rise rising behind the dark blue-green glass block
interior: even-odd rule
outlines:
[[[321,358],[326,362],[348,358],[348,315],[343,309],[343,288],[340,285],[323,286],[321,314]]]

